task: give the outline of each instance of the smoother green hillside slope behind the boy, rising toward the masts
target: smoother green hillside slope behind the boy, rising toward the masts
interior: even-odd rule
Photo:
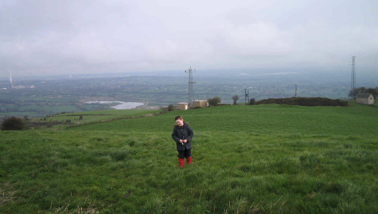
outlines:
[[[251,134],[377,134],[378,108],[353,104],[332,106],[216,106],[167,112],[132,120],[82,126],[75,130],[172,131],[174,117],[181,114],[197,131],[242,131]]]

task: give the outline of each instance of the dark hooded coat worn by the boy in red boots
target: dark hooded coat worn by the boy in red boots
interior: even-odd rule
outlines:
[[[189,123],[184,122],[184,125],[182,127],[179,127],[175,124],[173,131],[172,131],[172,138],[176,142],[177,151],[185,151],[185,148],[187,150],[192,149],[192,138],[193,138],[194,132],[189,127]],[[180,140],[187,139],[188,142],[179,143]]]

